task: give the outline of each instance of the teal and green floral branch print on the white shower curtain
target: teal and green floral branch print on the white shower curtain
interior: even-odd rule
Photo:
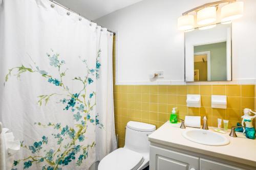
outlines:
[[[82,80],[81,78],[79,78],[79,80],[82,80],[82,83],[84,86],[86,86],[86,84],[90,85],[94,83],[92,76],[96,76],[96,79],[99,78],[99,69],[101,67],[101,64],[99,61],[100,52],[101,51],[99,50],[97,60],[96,60],[96,67],[89,69],[87,66],[89,76],[90,75],[91,76],[86,77],[85,80]],[[53,50],[51,50],[51,53],[53,53]],[[42,77],[47,79],[47,82],[54,84],[55,86],[58,86],[59,88],[62,88],[65,91],[69,91],[70,89],[68,88],[68,86],[65,86],[62,81],[62,77],[65,77],[66,71],[60,72],[61,66],[66,63],[65,60],[60,60],[59,54],[51,55],[47,53],[47,57],[49,58],[50,66],[57,67],[60,78],[58,79],[53,78],[51,75],[49,75],[49,72],[47,72],[46,70],[41,70],[38,66],[35,67],[36,68],[35,70],[33,70],[33,68],[26,68],[24,66],[17,67],[17,68],[26,69],[26,70],[29,70],[29,72],[38,72],[38,74],[40,74]],[[87,64],[86,60],[82,60],[82,62]],[[6,81],[7,80],[8,79],[6,79]],[[43,163],[43,162],[48,165],[42,166],[42,170],[53,170],[53,169],[61,170],[62,168],[60,166],[67,166],[72,161],[76,161],[75,164],[77,166],[80,166],[82,164],[82,161],[88,157],[88,150],[95,146],[95,142],[88,145],[77,144],[78,142],[83,142],[84,140],[86,140],[86,137],[84,134],[86,132],[88,122],[95,124],[99,128],[103,128],[103,125],[99,122],[98,115],[96,115],[95,117],[92,117],[90,115],[90,111],[93,110],[93,107],[95,106],[95,104],[91,105],[91,100],[92,99],[95,100],[95,98],[93,98],[94,94],[95,92],[91,92],[89,94],[89,100],[87,102],[83,102],[86,96],[85,89],[79,91],[79,93],[69,93],[67,94],[68,98],[66,97],[66,98],[60,99],[59,103],[65,105],[65,108],[63,110],[66,110],[66,111],[70,110],[73,113],[74,121],[77,123],[76,127],[78,128],[78,130],[76,131],[75,129],[73,129],[72,127],[69,127],[68,125],[62,127],[61,123],[55,124],[55,123],[49,122],[47,125],[43,125],[41,123],[35,123],[35,125],[37,126],[49,127],[49,128],[52,127],[55,131],[57,131],[57,133],[52,133],[52,136],[54,137],[54,139],[56,139],[57,145],[59,146],[62,145],[63,147],[59,149],[56,148],[54,150],[50,149],[48,151],[44,150],[45,155],[40,156],[42,154],[41,150],[43,150],[44,145],[47,145],[49,143],[49,138],[46,135],[43,135],[39,141],[35,141],[32,145],[27,146],[24,143],[24,141],[22,141],[20,142],[20,146],[22,148],[30,150],[32,155],[25,159],[14,160],[12,170],[17,170],[15,166],[18,166],[20,162],[23,162],[24,169],[31,168],[34,163]],[[45,102],[47,104],[47,102],[50,100],[50,97],[52,95],[55,95],[55,93],[51,95],[38,96],[39,98],[38,104],[40,104],[40,106],[41,106],[41,102]],[[74,113],[75,110],[77,110],[76,113]],[[67,138],[72,140],[72,142],[65,143],[65,145],[63,145],[62,142],[64,140],[67,140]],[[72,146],[73,148],[71,148],[71,150],[68,151],[68,148]],[[62,149],[66,149],[66,151],[68,152],[62,151]],[[77,158],[76,158],[76,154],[79,154]],[[54,157],[54,155],[56,155],[56,157]]]

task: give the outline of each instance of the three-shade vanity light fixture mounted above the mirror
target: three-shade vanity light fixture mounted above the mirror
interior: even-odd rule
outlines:
[[[226,4],[221,8],[221,19],[217,20],[217,10],[221,4]],[[204,27],[203,29],[209,29],[213,26],[207,27],[217,22],[227,22],[243,16],[244,3],[237,0],[222,0],[213,3],[207,3],[202,6],[188,10],[178,18],[179,30],[191,30],[195,28],[194,15],[189,14],[191,12],[197,12],[197,25]]]

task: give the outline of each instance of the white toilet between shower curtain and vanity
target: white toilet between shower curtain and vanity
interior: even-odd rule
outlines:
[[[150,142],[147,136],[156,130],[155,125],[130,121],[125,132],[125,144],[100,162],[98,170],[141,170],[150,160]]]

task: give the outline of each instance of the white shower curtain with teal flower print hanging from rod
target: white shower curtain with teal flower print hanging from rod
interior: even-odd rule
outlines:
[[[2,0],[0,122],[21,147],[12,169],[88,169],[116,149],[112,46],[112,33],[48,0]]]

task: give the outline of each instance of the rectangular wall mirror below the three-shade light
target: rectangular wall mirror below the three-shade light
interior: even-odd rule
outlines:
[[[231,23],[185,33],[185,81],[231,81]]]

